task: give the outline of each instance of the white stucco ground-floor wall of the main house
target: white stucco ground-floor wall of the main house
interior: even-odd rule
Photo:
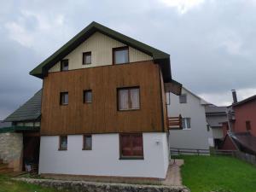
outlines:
[[[92,135],[92,150],[82,150],[82,143],[81,135],[70,135],[67,151],[59,151],[59,137],[41,137],[39,173],[166,177],[166,133],[143,133],[144,160],[119,160],[119,134]]]

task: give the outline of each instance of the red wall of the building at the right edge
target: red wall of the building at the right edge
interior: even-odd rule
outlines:
[[[246,121],[250,121],[251,134],[256,137],[256,99],[233,107],[235,111],[234,132],[247,131]]]

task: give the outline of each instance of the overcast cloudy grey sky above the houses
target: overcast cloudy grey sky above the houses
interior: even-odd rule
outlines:
[[[29,71],[93,20],[169,53],[173,79],[208,102],[255,95],[255,13],[255,0],[5,1],[0,119],[42,86]]]

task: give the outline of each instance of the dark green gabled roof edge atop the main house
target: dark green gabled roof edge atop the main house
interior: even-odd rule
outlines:
[[[172,80],[170,55],[160,51],[159,49],[154,49],[147,44],[143,44],[133,38],[129,38],[119,32],[115,32],[106,26],[96,23],[95,21],[91,22],[89,26],[86,26],[81,32],[69,40],[67,44],[64,44],[61,49],[58,49],[53,55],[50,55],[45,61],[40,63],[38,67],[35,67],[30,74],[43,79],[48,73],[50,67],[54,66],[56,62],[60,61],[62,58],[72,52],[73,49],[78,47],[79,44],[82,44],[87,38],[90,38],[94,32],[102,32],[110,38],[151,55],[154,62],[160,64],[164,81],[170,82]]]

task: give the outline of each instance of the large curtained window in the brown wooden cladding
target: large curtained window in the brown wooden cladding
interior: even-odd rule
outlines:
[[[134,110],[140,108],[140,90],[138,87],[118,89],[118,109]]]

